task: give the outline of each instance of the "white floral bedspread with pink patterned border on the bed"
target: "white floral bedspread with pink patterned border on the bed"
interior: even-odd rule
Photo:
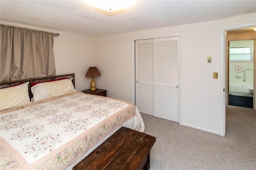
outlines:
[[[74,92],[3,111],[1,169],[62,169],[136,116],[135,109],[128,102]]]

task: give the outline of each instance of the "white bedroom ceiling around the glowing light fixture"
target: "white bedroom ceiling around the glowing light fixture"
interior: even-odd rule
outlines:
[[[256,12],[255,0],[136,0],[104,12],[82,0],[0,0],[0,19],[85,36],[220,20]]]

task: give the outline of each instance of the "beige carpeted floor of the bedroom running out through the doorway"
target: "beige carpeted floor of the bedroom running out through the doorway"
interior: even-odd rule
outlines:
[[[226,136],[141,114],[156,137],[150,170],[255,170],[256,111],[227,106]]]

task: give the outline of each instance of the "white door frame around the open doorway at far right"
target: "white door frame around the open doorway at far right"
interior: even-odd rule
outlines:
[[[220,135],[226,134],[227,104],[227,67],[226,67],[226,31],[255,27],[255,22],[220,28]]]

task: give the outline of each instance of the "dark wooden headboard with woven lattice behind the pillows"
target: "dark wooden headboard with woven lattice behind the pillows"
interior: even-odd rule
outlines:
[[[71,74],[64,74],[64,75],[52,75],[52,76],[48,76],[48,77],[38,77],[38,78],[30,78],[30,79],[21,79],[21,80],[14,80],[14,81],[2,81],[0,82],[0,89],[5,88],[5,87],[10,87],[12,85],[17,85],[19,83],[26,83],[29,82],[28,84],[28,94],[30,99],[33,97],[33,94],[31,92],[30,89],[30,83],[36,83],[36,82],[42,82],[42,81],[48,81],[48,80],[54,80],[54,79],[60,79],[60,78],[64,78],[67,77],[69,79],[72,79],[72,83],[75,87],[75,73],[71,73]]]

